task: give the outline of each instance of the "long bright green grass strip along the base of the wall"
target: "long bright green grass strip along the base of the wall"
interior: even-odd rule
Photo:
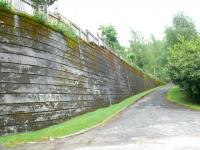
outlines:
[[[15,147],[17,144],[20,143],[38,142],[48,140],[50,138],[58,138],[80,132],[82,130],[103,123],[105,120],[124,110],[126,107],[133,104],[143,96],[154,91],[155,89],[157,88],[129,97],[124,101],[118,104],[114,104],[110,107],[97,109],[96,111],[83,114],[81,116],[72,118],[64,123],[54,125],[45,129],[9,136],[2,136],[0,137],[0,144],[6,147]]]

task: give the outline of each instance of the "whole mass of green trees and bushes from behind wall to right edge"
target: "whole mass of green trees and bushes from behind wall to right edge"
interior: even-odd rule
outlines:
[[[157,40],[154,35],[145,39],[140,32],[132,30],[128,48],[122,48],[119,44],[114,26],[101,26],[100,29],[103,39],[112,48],[118,49],[117,53],[129,64],[161,80],[171,79],[198,98],[200,63],[197,61],[200,44],[198,31],[190,17],[183,13],[176,14],[162,40]]]

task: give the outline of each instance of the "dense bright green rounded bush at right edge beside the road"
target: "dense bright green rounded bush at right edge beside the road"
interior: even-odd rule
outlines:
[[[181,38],[170,50],[169,70],[172,81],[200,102],[200,37]]]

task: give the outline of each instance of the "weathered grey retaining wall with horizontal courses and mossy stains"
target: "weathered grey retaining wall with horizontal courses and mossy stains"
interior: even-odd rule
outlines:
[[[0,10],[0,135],[60,123],[158,85],[104,48]]]

